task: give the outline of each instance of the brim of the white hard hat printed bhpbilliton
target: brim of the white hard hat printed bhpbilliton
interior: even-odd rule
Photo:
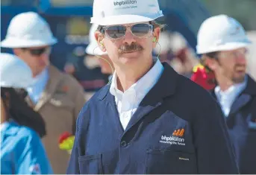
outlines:
[[[163,16],[162,11],[149,15],[119,15],[119,16],[106,16],[103,18],[92,17],[90,23],[97,25],[125,25],[138,22],[150,22],[154,19]]]

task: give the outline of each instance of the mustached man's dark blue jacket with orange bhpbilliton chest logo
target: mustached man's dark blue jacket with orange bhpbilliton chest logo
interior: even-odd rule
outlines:
[[[87,102],[78,116],[68,174],[237,174],[218,103],[163,66],[125,130],[109,85]]]

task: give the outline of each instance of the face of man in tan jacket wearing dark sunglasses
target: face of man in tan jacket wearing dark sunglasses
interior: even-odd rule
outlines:
[[[51,47],[48,45],[33,48],[14,48],[13,51],[28,64],[33,72],[33,77],[46,69],[46,66],[49,66]]]

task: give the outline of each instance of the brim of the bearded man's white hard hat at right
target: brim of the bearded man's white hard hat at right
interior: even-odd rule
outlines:
[[[218,45],[213,48],[199,48],[196,46],[196,53],[197,54],[207,54],[214,51],[231,51],[237,48],[245,48],[248,45],[252,44],[251,41],[247,40],[246,42],[228,42],[223,45]]]

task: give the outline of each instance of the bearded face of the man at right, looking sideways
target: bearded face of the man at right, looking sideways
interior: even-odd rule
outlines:
[[[220,51],[216,62],[216,73],[227,77],[234,83],[243,82],[246,75],[246,48]]]

